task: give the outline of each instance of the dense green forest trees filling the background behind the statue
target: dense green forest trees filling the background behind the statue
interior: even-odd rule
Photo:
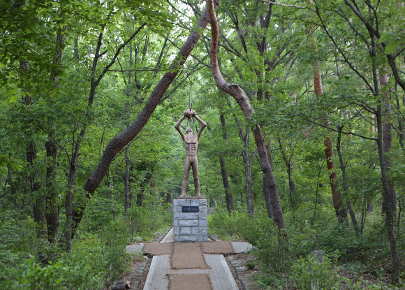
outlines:
[[[375,264],[402,283],[404,2],[15,0],[0,12],[0,280],[27,254],[71,257],[105,225],[131,231],[124,245],[141,219],[170,223],[185,157],[174,124],[190,101],[207,122],[199,175],[213,207],[264,215],[290,242],[343,226],[358,242],[346,249],[384,252]]]

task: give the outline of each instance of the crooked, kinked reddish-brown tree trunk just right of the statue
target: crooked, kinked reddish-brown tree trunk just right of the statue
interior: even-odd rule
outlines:
[[[209,48],[209,58],[211,63],[212,75],[214,76],[214,80],[219,89],[221,89],[223,92],[226,92],[227,94],[230,94],[230,96],[233,96],[233,99],[235,99],[235,101],[239,104],[246,118],[251,119],[254,110],[249,103],[244,90],[239,85],[226,82],[226,80],[223,79],[221,72],[219,71],[219,64],[217,59],[219,27],[212,0],[207,0],[207,9],[209,12],[209,21],[211,23],[212,29],[212,38]],[[263,180],[265,181],[264,183],[267,185],[267,188],[270,192],[272,210],[274,213],[274,222],[277,224],[279,229],[283,229],[284,218],[283,211],[281,210],[279,193],[277,191],[277,183],[273,175],[272,167],[270,166],[269,157],[267,155],[265,145],[265,138],[263,136],[260,124],[256,124],[256,127],[252,129],[252,131],[255,138],[256,146],[258,148],[260,166],[264,175]]]

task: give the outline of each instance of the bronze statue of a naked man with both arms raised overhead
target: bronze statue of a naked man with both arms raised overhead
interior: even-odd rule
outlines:
[[[201,124],[200,131],[196,135],[193,135],[193,130],[190,127],[186,128],[186,134],[180,129],[180,124],[182,124],[185,118],[195,117]],[[207,126],[207,124],[196,115],[196,112],[191,109],[187,109],[183,112],[182,117],[179,122],[175,124],[175,128],[179,131],[182,136],[184,147],[186,147],[186,163],[184,164],[184,176],[182,182],[182,194],[180,196],[186,196],[187,182],[189,180],[190,167],[193,168],[194,176],[194,187],[196,188],[196,196],[200,196],[200,180],[198,180],[198,160],[197,160],[197,149],[198,140],[200,140],[200,135],[202,130]]]

